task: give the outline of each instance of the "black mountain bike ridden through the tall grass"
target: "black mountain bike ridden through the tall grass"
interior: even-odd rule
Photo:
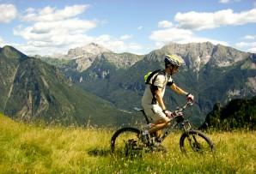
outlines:
[[[191,123],[184,117],[184,110],[192,106],[192,102],[186,102],[186,105],[178,107],[174,112],[174,118],[170,120],[170,123],[160,137],[156,137],[155,134],[149,135],[148,141],[142,139],[143,129],[137,129],[133,127],[125,127],[118,129],[111,138],[111,150],[113,153],[123,153],[128,155],[132,151],[146,150],[154,151],[155,144],[161,145],[162,141],[174,131],[174,129],[182,128],[183,133],[180,136],[180,150],[182,153],[211,153],[214,151],[213,142],[209,137],[204,135],[203,132],[192,129]],[[134,108],[136,111],[141,111],[146,120],[146,126],[144,129],[149,129],[150,121],[146,116],[143,109]],[[158,146],[159,147],[159,146]]]

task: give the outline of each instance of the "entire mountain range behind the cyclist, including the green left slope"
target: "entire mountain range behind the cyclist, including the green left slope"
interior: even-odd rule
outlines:
[[[146,55],[118,54],[92,43],[47,57],[27,57],[4,46],[0,48],[0,111],[23,120],[129,123],[132,108],[140,106],[143,76],[163,69],[165,54],[178,54],[186,62],[173,79],[195,95],[196,105],[188,113],[197,125],[204,123],[216,102],[225,104],[256,93],[256,55],[210,42],[170,43]],[[174,110],[186,99],[167,90],[165,101]]]

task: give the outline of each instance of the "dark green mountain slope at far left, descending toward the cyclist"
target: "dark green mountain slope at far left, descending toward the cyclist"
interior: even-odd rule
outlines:
[[[121,125],[130,119],[106,100],[76,87],[58,68],[11,46],[0,48],[0,111],[26,122],[64,125]]]

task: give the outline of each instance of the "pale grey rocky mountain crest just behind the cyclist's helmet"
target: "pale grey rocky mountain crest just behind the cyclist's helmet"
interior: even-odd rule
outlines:
[[[152,55],[163,57],[164,54],[178,54],[186,62],[186,66],[199,71],[206,63],[217,67],[232,66],[246,59],[249,53],[238,51],[225,45],[213,45],[210,42],[176,44],[170,43],[162,49],[151,52]],[[155,56],[153,56],[155,57]]]

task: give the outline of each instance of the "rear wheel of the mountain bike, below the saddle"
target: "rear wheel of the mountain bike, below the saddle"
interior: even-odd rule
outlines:
[[[139,129],[131,127],[117,130],[111,138],[111,151],[127,156],[142,150],[144,145],[139,140],[140,132]]]

